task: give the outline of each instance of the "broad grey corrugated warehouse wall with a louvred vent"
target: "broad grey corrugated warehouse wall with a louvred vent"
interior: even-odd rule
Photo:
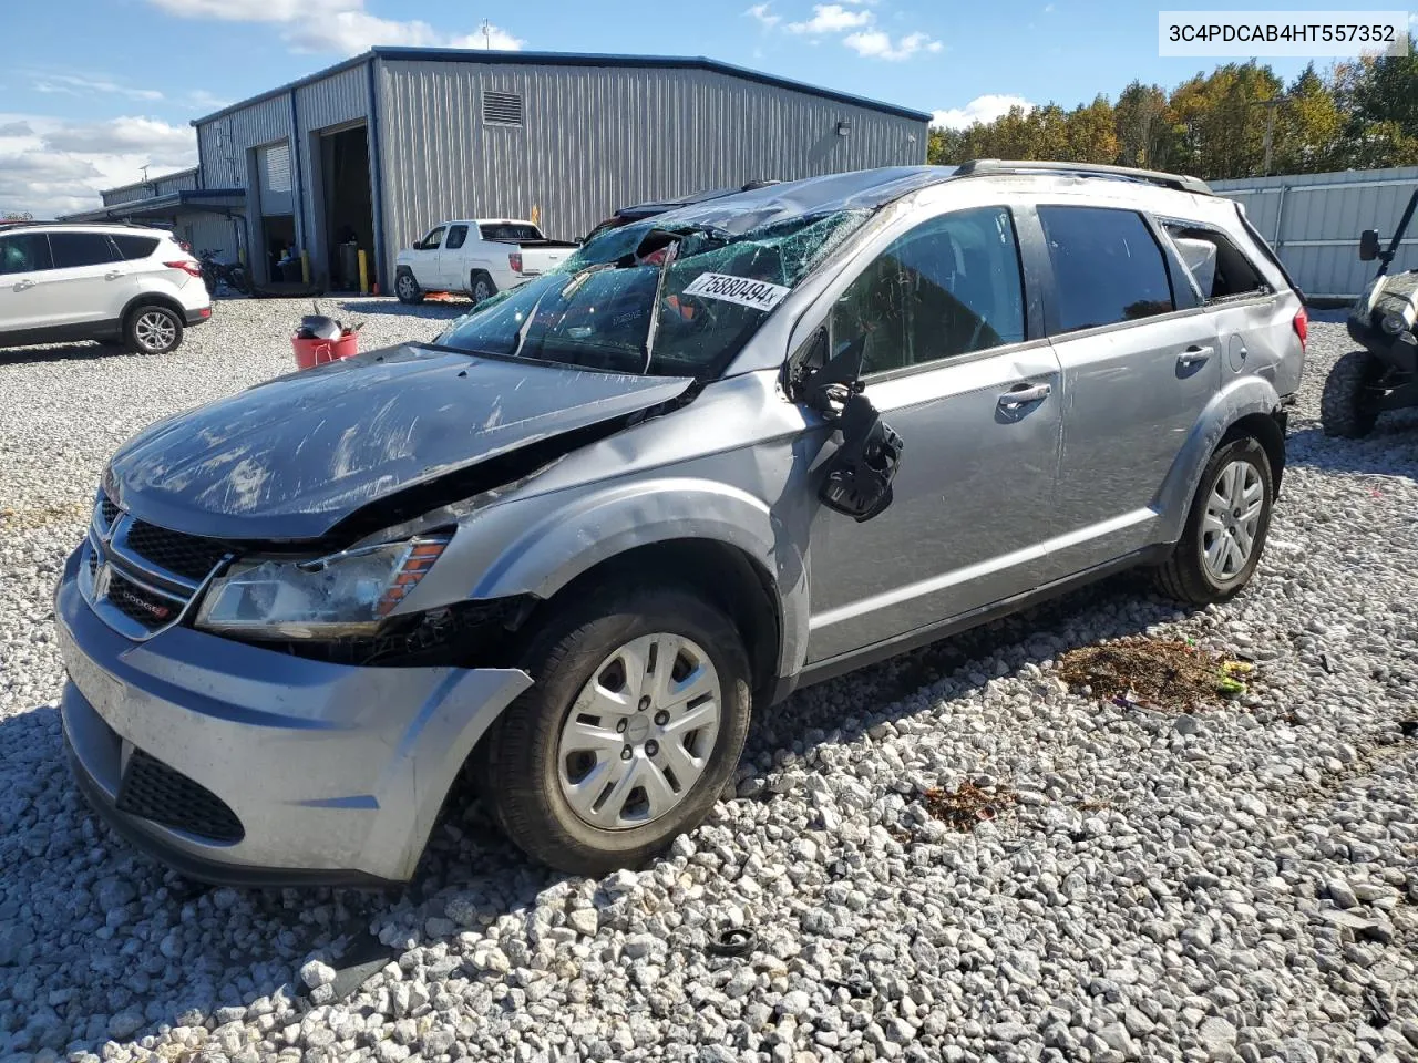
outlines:
[[[922,120],[710,71],[379,60],[377,72],[389,275],[441,218],[537,207],[547,235],[576,238],[631,203],[926,157]],[[523,126],[484,123],[484,89],[520,94]]]

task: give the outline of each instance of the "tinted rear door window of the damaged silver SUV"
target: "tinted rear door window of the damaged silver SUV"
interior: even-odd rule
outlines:
[[[1058,293],[1055,332],[1117,325],[1176,309],[1167,264],[1140,214],[1039,207]]]

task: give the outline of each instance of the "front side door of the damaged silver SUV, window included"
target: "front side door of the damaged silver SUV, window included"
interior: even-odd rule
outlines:
[[[1059,441],[1058,361],[1038,329],[1005,207],[909,228],[837,298],[832,349],[866,336],[866,397],[905,455],[879,516],[813,517],[810,662],[1038,583]]]

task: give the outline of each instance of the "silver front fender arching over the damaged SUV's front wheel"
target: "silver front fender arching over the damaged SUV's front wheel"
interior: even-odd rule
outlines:
[[[770,577],[783,625],[778,675],[801,666],[808,631],[805,566],[795,537],[761,499],[685,476],[618,485],[570,503],[563,497],[557,492],[512,500],[465,517],[438,560],[437,578],[421,581],[400,611],[464,598],[546,600],[627,550],[676,539],[712,540],[743,551]]]

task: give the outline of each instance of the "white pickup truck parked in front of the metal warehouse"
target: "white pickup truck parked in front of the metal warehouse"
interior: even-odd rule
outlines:
[[[576,244],[547,240],[530,221],[462,218],[434,225],[394,262],[394,295],[417,303],[427,292],[464,292],[474,303],[559,266]]]

